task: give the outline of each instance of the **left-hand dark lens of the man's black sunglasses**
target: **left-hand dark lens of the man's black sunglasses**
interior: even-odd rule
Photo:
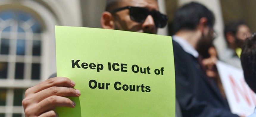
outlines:
[[[132,20],[143,23],[147,18],[149,11],[144,8],[132,7],[130,8],[130,17]]]

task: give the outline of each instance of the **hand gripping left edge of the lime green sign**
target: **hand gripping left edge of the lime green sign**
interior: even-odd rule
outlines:
[[[75,82],[64,77],[45,80],[26,90],[22,101],[25,115],[56,116],[55,107],[75,107],[75,103],[66,97],[79,97],[80,91],[74,89]]]

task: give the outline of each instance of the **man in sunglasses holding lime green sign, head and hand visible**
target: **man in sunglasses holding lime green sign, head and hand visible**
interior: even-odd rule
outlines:
[[[101,18],[102,28],[156,34],[157,28],[164,27],[168,20],[166,15],[158,11],[157,0],[108,0]],[[78,68],[78,63],[80,62],[74,59],[72,66]],[[164,69],[160,68],[159,73],[161,70],[163,72]],[[91,80],[91,83],[95,81]],[[22,102],[25,115],[54,117],[58,115],[56,107],[75,107],[76,103],[66,98],[81,95],[79,90],[73,88],[75,85],[68,78],[55,77],[29,88]],[[150,91],[146,86],[142,90],[143,84],[140,87],[141,91]]]

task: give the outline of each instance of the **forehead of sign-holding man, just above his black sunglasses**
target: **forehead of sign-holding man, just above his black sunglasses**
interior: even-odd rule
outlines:
[[[119,6],[145,7],[149,10],[159,10],[157,0],[122,0]]]

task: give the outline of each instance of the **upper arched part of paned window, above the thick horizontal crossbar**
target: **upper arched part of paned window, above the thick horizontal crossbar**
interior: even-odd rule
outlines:
[[[27,12],[0,12],[0,78],[40,79],[41,32]]]

